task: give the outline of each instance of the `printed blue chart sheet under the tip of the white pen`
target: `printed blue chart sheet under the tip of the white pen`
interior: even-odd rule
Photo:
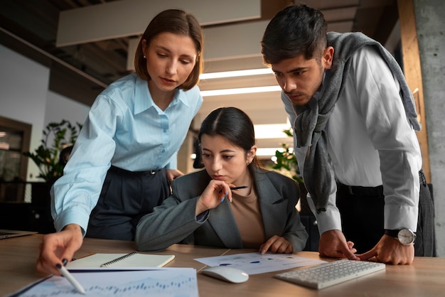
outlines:
[[[85,288],[85,295],[77,293],[73,285],[62,276],[51,276],[29,286],[27,290],[21,290],[9,297],[198,297],[196,270],[192,268],[139,269],[136,271],[102,269],[95,272],[71,271],[71,274]]]

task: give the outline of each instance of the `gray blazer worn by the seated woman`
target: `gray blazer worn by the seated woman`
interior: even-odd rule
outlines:
[[[137,249],[159,251],[176,243],[242,248],[228,199],[197,221],[196,202],[210,180],[205,170],[173,180],[172,195],[139,220]],[[308,234],[295,208],[299,199],[296,182],[277,172],[257,168],[254,183],[266,239],[279,235],[293,244],[294,252],[304,249]]]

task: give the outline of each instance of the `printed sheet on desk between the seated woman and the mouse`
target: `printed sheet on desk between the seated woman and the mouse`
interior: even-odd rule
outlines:
[[[232,266],[247,274],[291,269],[326,263],[326,261],[297,256],[295,254],[245,253],[195,259],[208,266]]]

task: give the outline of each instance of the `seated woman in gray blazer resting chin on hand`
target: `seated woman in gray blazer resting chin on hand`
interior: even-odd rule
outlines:
[[[136,245],[158,251],[171,244],[301,251],[308,234],[295,208],[294,180],[260,168],[254,127],[235,107],[215,109],[200,127],[205,169],[176,178],[172,195],[139,220]],[[232,189],[245,186],[245,188]]]

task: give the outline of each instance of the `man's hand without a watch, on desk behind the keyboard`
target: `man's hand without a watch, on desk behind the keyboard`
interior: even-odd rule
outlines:
[[[353,248],[353,242],[346,242],[345,235],[340,230],[328,230],[320,236],[318,252],[322,257],[348,258],[350,260],[360,260]]]

